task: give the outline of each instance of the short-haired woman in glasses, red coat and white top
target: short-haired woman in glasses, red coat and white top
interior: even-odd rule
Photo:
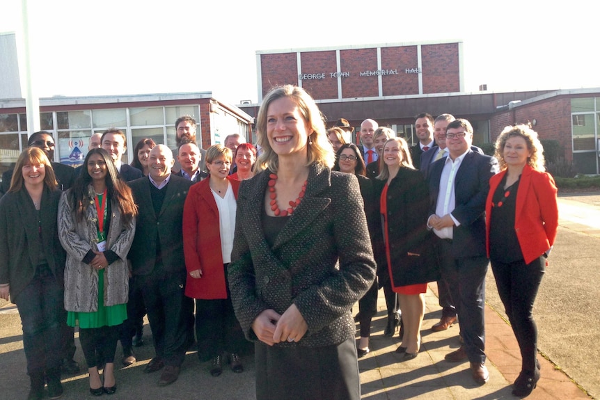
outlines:
[[[191,186],[183,210],[188,272],[185,294],[196,299],[198,358],[212,360],[212,376],[221,375],[224,352],[232,371],[244,371],[238,355],[244,336],[235,319],[226,277],[239,188],[239,181],[228,176],[231,158],[227,147],[208,148],[206,166],[210,177]]]

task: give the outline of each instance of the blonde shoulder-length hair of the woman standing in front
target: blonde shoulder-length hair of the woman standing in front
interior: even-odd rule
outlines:
[[[275,100],[283,97],[289,97],[297,104],[298,109],[307,122],[309,129],[313,129],[313,133],[308,136],[308,145],[306,149],[306,166],[313,163],[319,163],[323,166],[332,168],[335,163],[335,153],[327,138],[327,130],[321,111],[313,97],[310,97],[306,90],[298,86],[285,85],[271,89],[258,110],[256,119],[256,129],[258,136],[258,145],[262,147],[262,154],[256,161],[256,173],[262,170],[270,170],[272,173],[277,173],[279,167],[279,159],[269,144],[267,138],[267,111],[269,106]]]

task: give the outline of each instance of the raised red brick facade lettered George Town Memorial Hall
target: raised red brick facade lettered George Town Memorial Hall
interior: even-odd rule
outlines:
[[[260,54],[260,88],[264,97],[273,86],[289,83],[318,100],[340,99],[340,83],[342,99],[455,93],[461,89],[459,49],[459,43],[440,43]]]

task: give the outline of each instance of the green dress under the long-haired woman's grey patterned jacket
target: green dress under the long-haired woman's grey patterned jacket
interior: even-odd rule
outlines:
[[[96,195],[96,201],[102,204],[102,195]],[[110,205],[108,198],[106,204]],[[104,231],[106,231],[106,215],[110,215],[110,206],[104,208]],[[100,232],[98,228],[98,241],[106,239],[106,232]],[[127,304],[104,305],[104,275],[106,268],[98,272],[98,310],[95,312],[67,312],[68,326],[77,326],[79,328],[100,328],[102,326],[120,325],[127,319]]]

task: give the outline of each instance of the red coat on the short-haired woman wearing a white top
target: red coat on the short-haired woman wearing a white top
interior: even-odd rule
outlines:
[[[239,181],[227,179],[237,200]],[[227,298],[219,209],[209,182],[210,179],[204,179],[192,185],[183,207],[183,250],[188,272],[185,295],[205,300]],[[189,273],[196,269],[202,270],[202,278],[191,278]]]

